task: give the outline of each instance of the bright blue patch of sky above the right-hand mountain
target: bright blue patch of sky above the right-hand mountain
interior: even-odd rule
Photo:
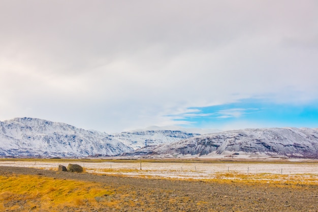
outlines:
[[[238,128],[255,127],[318,127],[318,104],[276,104],[258,99],[209,107],[188,108],[188,113],[171,116],[187,123],[184,127]],[[229,127],[231,128],[231,127]]]

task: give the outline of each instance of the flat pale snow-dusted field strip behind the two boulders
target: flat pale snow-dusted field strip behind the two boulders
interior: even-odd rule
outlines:
[[[171,177],[171,178],[213,178],[217,173],[242,174],[310,174],[318,176],[318,163],[197,163],[197,162],[39,162],[0,161],[0,166],[20,166],[57,170],[59,164],[68,166],[76,163],[86,172],[119,174],[128,176]],[[141,170],[140,170],[141,167]]]

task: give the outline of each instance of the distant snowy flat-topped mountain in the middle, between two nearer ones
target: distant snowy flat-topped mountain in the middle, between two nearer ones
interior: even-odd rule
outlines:
[[[172,143],[186,138],[192,138],[200,134],[187,133],[178,130],[146,130],[122,132],[114,135],[114,138],[134,149],[149,145]]]

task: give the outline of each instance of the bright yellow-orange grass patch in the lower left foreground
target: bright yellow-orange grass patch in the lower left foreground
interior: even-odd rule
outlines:
[[[65,207],[93,206],[97,205],[94,197],[113,193],[97,183],[33,175],[0,176],[0,211],[61,211]],[[117,203],[105,201],[99,205]]]

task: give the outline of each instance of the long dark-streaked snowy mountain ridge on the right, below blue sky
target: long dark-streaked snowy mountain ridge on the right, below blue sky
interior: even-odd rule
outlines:
[[[206,134],[181,141],[148,146],[125,155],[265,154],[318,158],[318,129],[267,128]]]

